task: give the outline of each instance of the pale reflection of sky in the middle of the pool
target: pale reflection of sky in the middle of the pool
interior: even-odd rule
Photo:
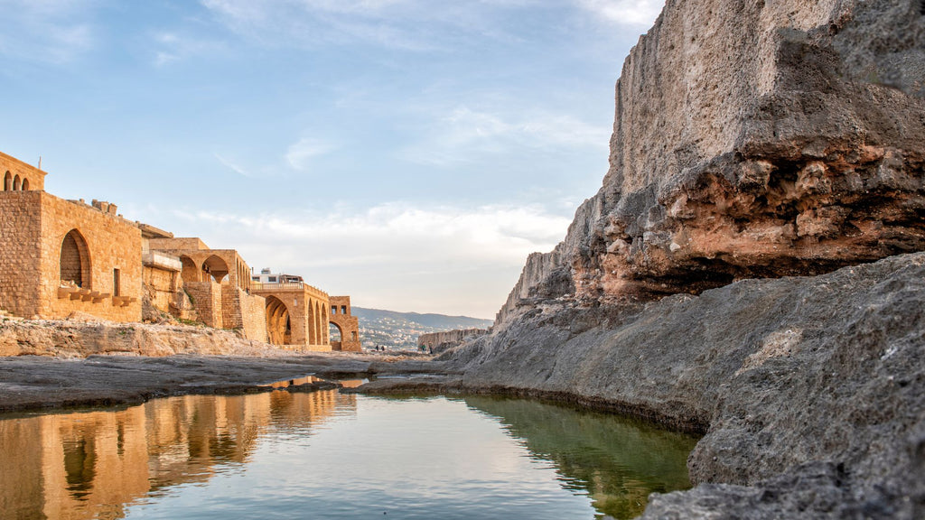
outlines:
[[[591,518],[497,421],[444,398],[359,397],[311,436],[265,438],[247,466],[128,518]]]

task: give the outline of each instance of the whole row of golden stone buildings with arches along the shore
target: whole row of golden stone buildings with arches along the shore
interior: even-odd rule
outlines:
[[[130,222],[115,204],[59,199],[43,191],[45,172],[9,155],[0,174],[0,311],[118,322],[164,314],[300,350],[331,350],[335,323],[346,334],[336,350],[353,340],[359,350],[356,328],[329,321],[327,292],[302,277],[262,273],[254,283],[235,250]]]

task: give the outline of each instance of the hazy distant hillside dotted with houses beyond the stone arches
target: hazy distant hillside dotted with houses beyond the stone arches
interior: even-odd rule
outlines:
[[[364,347],[381,345],[390,349],[415,349],[421,334],[457,328],[488,328],[493,323],[490,319],[469,316],[399,313],[363,307],[352,307],[352,313],[360,318],[360,340]]]

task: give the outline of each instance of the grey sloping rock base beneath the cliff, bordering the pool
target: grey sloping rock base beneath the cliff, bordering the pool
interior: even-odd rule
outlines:
[[[921,518],[925,254],[633,307],[523,306],[445,354],[463,390],[541,392],[705,432],[651,518]],[[672,516],[672,514],[674,514]]]

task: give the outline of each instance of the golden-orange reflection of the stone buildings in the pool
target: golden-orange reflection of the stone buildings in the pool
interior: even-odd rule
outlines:
[[[355,409],[355,396],[336,391],[274,391],[0,420],[0,512],[122,518],[132,501],[239,470],[262,437],[304,434]]]

